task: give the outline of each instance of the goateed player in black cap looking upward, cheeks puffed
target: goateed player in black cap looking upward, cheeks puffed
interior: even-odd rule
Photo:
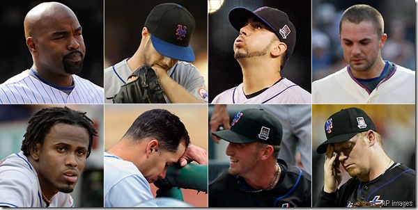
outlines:
[[[310,104],[311,94],[280,74],[296,42],[288,15],[267,6],[254,12],[233,8],[229,22],[240,32],[233,51],[243,83],[217,95],[212,104]]]

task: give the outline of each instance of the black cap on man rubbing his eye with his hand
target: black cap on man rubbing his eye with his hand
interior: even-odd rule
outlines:
[[[327,152],[327,145],[342,143],[364,131],[376,131],[369,115],[359,108],[346,108],[334,113],[325,122],[327,140],[316,148],[319,154]]]

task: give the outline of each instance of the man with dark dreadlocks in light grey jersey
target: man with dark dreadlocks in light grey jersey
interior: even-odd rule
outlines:
[[[21,152],[0,161],[0,207],[73,207],[70,194],[97,131],[86,113],[68,107],[34,113]]]

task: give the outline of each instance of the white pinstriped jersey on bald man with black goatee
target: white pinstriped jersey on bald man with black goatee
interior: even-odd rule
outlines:
[[[72,75],[74,86],[63,87],[23,71],[0,84],[0,104],[103,104],[104,90]],[[30,74],[32,73],[32,74]],[[36,75],[35,75],[36,76]],[[68,95],[63,91],[71,91]]]

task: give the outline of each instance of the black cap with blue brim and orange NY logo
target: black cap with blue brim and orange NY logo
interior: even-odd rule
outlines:
[[[158,53],[187,62],[194,61],[194,52],[189,42],[195,25],[192,14],[177,3],[155,6],[145,22]]]

